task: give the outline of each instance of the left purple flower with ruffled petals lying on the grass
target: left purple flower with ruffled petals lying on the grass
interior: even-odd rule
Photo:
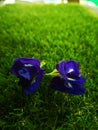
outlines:
[[[40,61],[34,58],[17,58],[11,68],[13,75],[19,78],[19,85],[24,93],[34,93],[43,77],[44,71],[40,68]]]

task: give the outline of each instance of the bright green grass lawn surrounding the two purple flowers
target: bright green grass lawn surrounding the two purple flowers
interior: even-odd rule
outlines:
[[[83,96],[49,88],[24,95],[10,72],[15,58],[45,61],[45,73],[61,60],[76,60],[87,78]],[[98,17],[85,7],[16,4],[0,7],[0,128],[2,130],[98,129]]]

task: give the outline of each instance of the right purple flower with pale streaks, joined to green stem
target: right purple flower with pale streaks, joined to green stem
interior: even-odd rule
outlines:
[[[79,71],[79,66],[76,61],[62,61],[56,65],[56,73],[51,82],[51,88],[74,95],[84,94],[83,87],[86,81]]]

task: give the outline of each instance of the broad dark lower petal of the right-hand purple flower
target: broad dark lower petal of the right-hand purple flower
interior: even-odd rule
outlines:
[[[66,80],[64,80],[63,78],[54,77],[52,79],[50,86],[55,90],[65,92],[68,94],[82,95],[85,92],[85,89],[83,87],[84,82],[85,82],[85,78],[81,78],[78,81],[70,81],[67,84]]]

